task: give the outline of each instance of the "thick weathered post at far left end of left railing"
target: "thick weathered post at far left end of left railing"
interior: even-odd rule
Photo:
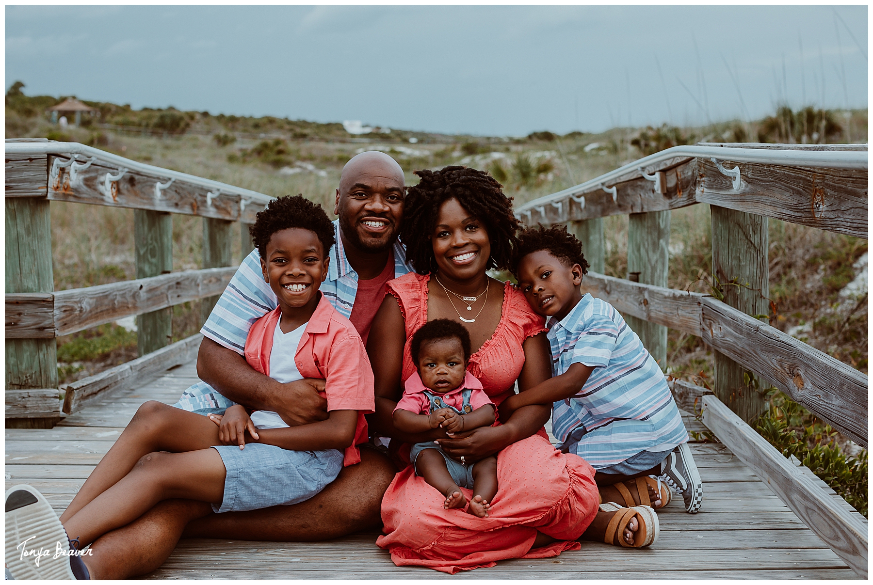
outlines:
[[[6,197],[7,293],[54,290],[52,221],[45,187],[42,194],[43,198]],[[53,337],[6,339],[6,412],[10,416],[6,419],[7,428],[50,429],[57,424],[60,419],[57,348]],[[18,418],[15,411],[24,417]]]

